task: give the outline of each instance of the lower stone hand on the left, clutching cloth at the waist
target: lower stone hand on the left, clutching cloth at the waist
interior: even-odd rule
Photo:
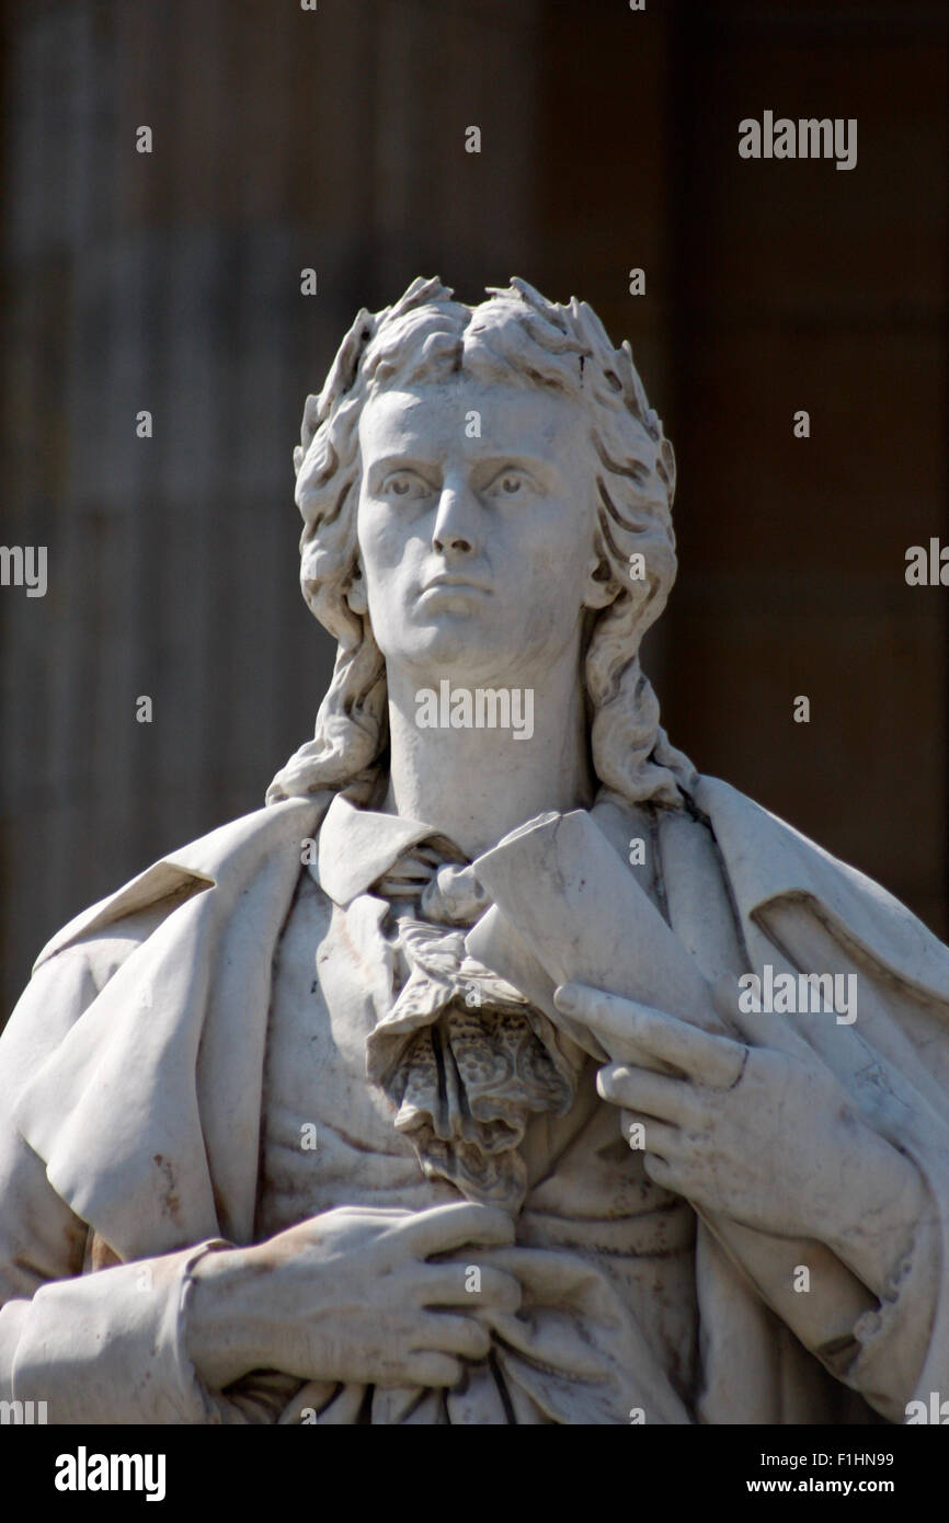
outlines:
[[[510,1217],[490,1206],[340,1206],[253,1247],[200,1260],[187,1351],[218,1390],[251,1369],[454,1386],[462,1360],[489,1351],[477,1311],[519,1307],[518,1281],[477,1255],[512,1241]],[[459,1249],[460,1258],[430,1263]]]

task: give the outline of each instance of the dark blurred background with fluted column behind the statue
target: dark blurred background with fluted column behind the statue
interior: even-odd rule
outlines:
[[[58,926],[312,733],[291,452],[416,274],[519,274],[632,341],[679,466],[670,737],[949,934],[949,589],[905,582],[949,542],[946,15],[3,5],[0,541],[47,545],[49,591],[0,588],[0,1019]],[[856,169],[739,158],[765,110],[856,117]]]

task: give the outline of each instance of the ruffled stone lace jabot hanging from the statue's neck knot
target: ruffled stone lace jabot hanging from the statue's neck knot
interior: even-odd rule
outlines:
[[[396,1106],[396,1130],[427,1176],[516,1212],[527,1122],[570,1110],[583,1054],[468,956],[465,932],[489,902],[446,851],[449,842],[416,844],[372,886],[390,905],[398,996],[367,1039],[367,1074]]]

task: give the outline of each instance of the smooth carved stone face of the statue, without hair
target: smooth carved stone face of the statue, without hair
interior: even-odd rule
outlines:
[[[564,394],[463,373],[376,393],[359,419],[356,533],[387,666],[510,682],[579,641],[593,580],[590,425]]]

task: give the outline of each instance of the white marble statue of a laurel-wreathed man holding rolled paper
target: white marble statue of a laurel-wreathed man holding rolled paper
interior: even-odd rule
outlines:
[[[416,280],[294,461],[338,641],[315,739],[55,937],[0,1040],[2,1395],[684,1424],[949,1394],[949,950],[660,728],[675,463],[629,346],[521,280]],[[498,924],[521,963],[478,956]],[[795,1011],[809,979],[859,1002]]]

